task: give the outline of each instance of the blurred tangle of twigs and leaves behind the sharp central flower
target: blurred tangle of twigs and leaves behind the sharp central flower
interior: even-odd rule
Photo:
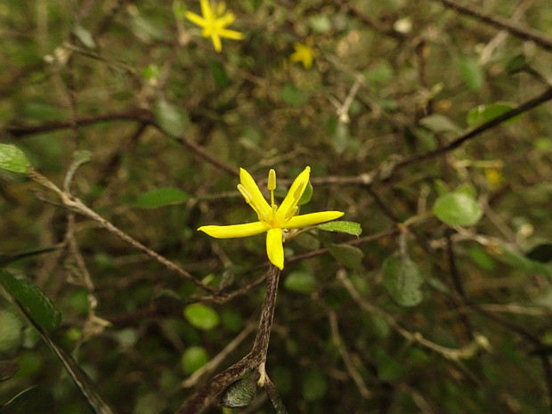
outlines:
[[[115,412],[173,413],[248,353],[264,237],[196,229],[256,218],[235,190],[240,166],[260,182],[276,169],[281,197],[307,165],[302,212],[345,211],[363,232],[286,245],[267,371],[288,411],[549,412],[551,97],[449,144],[549,91],[552,6],[462,4],[479,14],[433,0],[231,2],[244,39],[223,38],[221,53],[185,19],[201,13],[195,1],[0,4],[2,142],[231,293],[202,291],[52,191],[0,173],[0,254],[56,247],[7,268],[53,300],[53,337]],[[311,67],[291,58],[300,47]],[[472,202],[466,223],[446,201],[434,209],[447,194]],[[233,340],[214,371],[185,382]],[[0,353],[0,405],[40,386],[53,412],[91,412],[5,294]],[[272,408],[260,392],[236,411]]]

